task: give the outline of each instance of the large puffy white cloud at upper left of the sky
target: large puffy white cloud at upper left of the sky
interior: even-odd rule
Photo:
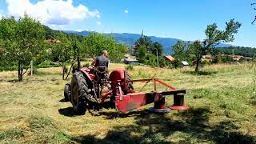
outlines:
[[[46,25],[68,25],[85,18],[100,18],[98,10],[90,11],[82,4],[73,6],[72,2],[73,0],[43,0],[33,4],[30,0],[6,0],[9,15],[18,18],[26,13]]]

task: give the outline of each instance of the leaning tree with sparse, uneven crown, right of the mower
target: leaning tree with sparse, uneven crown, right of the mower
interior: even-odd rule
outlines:
[[[234,34],[238,33],[240,26],[241,23],[234,22],[234,19],[231,19],[230,22],[226,22],[225,30],[218,30],[216,23],[207,26],[205,31],[206,39],[202,43],[196,41],[192,44],[192,50],[194,50],[194,54],[196,54],[196,72],[199,70],[202,54],[206,53],[207,50],[214,48],[214,46],[217,46],[221,42],[233,42]]]

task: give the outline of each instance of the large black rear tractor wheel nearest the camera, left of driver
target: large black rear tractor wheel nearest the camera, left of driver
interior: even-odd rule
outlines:
[[[86,78],[81,72],[75,72],[71,81],[71,103],[75,114],[86,113],[86,95],[88,93],[88,86]]]

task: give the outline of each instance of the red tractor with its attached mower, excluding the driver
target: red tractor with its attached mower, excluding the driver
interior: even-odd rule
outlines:
[[[64,96],[70,101],[76,114],[85,114],[86,110],[100,109],[106,99],[110,98],[110,104],[118,112],[128,113],[138,107],[154,102],[154,112],[168,112],[172,110],[187,110],[184,105],[186,90],[176,90],[166,82],[158,78],[146,78],[132,80],[125,70],[117,68],[110,75],[106,67],[98,66],[94,69],[79,68],[74,71],[71,83],[66,84]],[[142,88],[134,91],[133,82],[146,82]],[[154,90],[142,93],[142,89],[148,82],[154,82]],[[169,90],[158,91],[157,84],[166,86]],[[165,97],[174,95],[174,105],[166,106]]]

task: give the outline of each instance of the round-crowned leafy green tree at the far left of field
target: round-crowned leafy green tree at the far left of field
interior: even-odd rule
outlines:
[[[2,18],[0,21],[0,39],[8,61],[18,63],[18,81],[22,81],[23,66],[42,51],[45,29],[42,24],[28,15],[19,18]]]

